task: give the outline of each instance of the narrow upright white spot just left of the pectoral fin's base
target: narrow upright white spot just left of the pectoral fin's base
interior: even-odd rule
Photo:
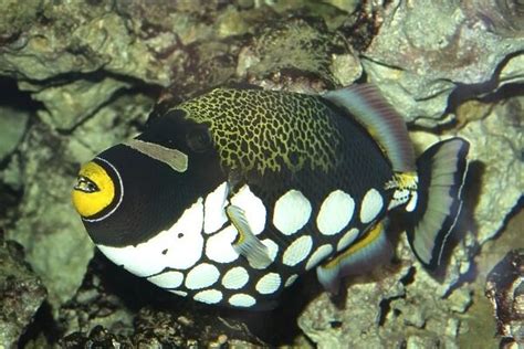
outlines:
[[[203,232],[211,234],[218,231],[227,221],[228,183],[223,182],[206,197],[203,204]]]

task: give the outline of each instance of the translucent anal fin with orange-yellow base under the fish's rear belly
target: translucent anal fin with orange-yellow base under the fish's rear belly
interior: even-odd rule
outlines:
[[[355,244],[316,268],[324,289],[336,295],[342,278],[368,272],[391,257],[392,248],[386,237],[385,225],[382,221],[378,222]]]

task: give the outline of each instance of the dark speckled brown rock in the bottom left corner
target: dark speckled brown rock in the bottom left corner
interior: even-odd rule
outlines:
[[[24,262],[22,247],[3,240],[0,229],[0,348],[15,348],[46,292]]]

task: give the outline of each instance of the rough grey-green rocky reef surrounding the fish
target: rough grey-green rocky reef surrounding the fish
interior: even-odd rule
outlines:
[[[354,82],[382,91],[419,152],[471,141],[462,223],[437,275],[395,226],[395,261],[337,299],[306,275],[279,309],[244,313],[163,293],[95,253],[70,204],[75,173],[157,101]],[[0,92],[0,348],[524,340],[522,1],[3,0]]]

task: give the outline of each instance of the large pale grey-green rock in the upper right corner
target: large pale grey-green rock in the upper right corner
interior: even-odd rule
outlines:
[[[363,64],[407,120],[444,123],[443,110],[457,86],[492,92],[499,87],[499,70],[522,60],[522,35],[493,32],[474,2],[396,0],[387,7]],[[516,66],[506,80],[522,82],[523,65]]]

